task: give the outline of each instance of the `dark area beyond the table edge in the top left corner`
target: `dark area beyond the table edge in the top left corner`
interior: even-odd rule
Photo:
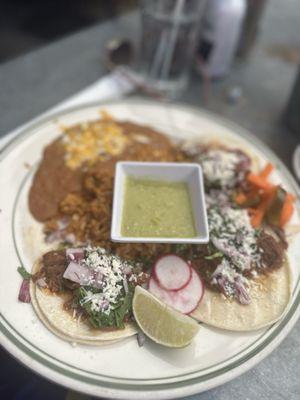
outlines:
[[[137,0],[1,0],[0,61],[137,7]]]

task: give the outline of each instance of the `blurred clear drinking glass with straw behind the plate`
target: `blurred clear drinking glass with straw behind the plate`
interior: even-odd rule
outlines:
[[[187,86],[206,0],[142,0],[140,71],[168,97]]]

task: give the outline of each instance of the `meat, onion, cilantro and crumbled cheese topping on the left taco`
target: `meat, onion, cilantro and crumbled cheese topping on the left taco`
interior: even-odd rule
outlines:
[[[100,247],[50,251],[32,277],[39,290],[65,296],[65,311],[97,329],[122,329],[132,320],[134,287],[146,278]]]

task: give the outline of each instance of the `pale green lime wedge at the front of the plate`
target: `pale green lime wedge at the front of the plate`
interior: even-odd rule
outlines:
[[[167,306],[141,286],[135,288],[132,308],[144,334],[164,346],[187,346],[199,330],[196,321]]]

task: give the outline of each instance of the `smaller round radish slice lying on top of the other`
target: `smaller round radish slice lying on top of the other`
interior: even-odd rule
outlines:
[[[168,254],[156,261],[153,274],[163,289],[180,290],[191,280],[192,269],[181,257]]]

